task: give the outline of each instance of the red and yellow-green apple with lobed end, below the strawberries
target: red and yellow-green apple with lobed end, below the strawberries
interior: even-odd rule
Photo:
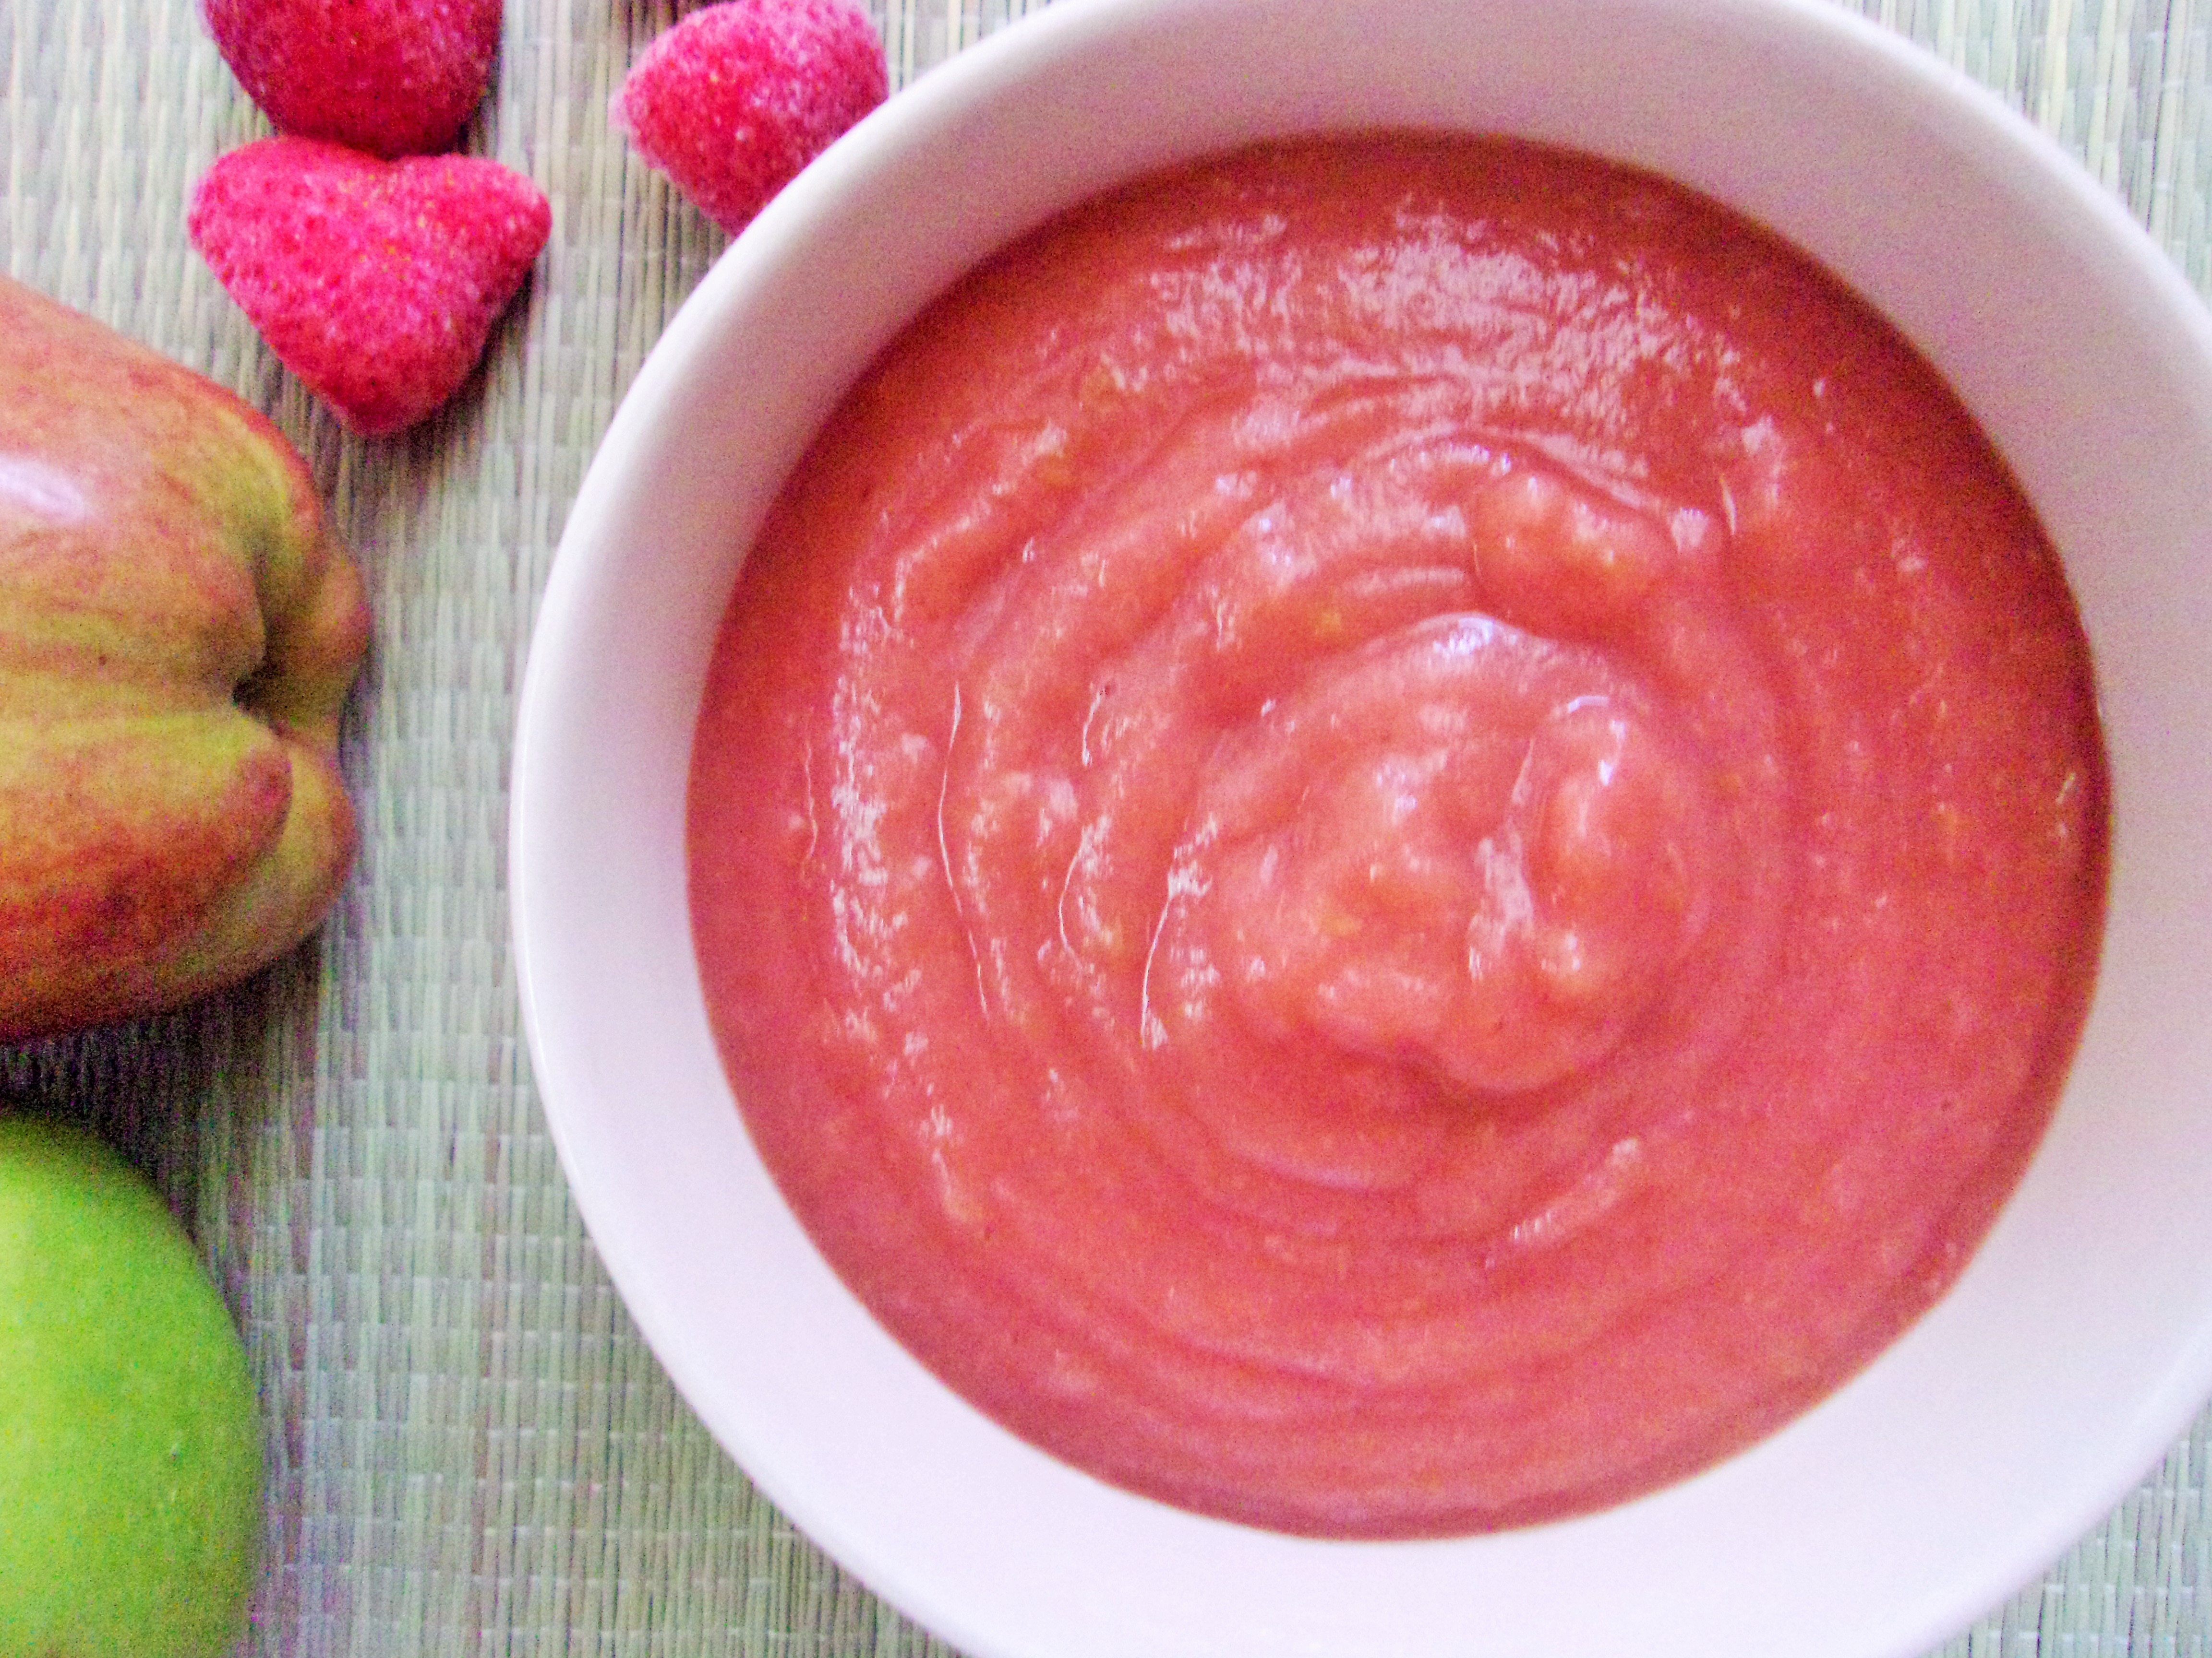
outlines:
[[[190,1001],[354,858],[367,601],[299,453],[0,279],[0,1041]]]

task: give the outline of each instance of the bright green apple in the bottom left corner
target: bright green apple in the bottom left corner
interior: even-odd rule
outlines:
[[[0,1116],[0,1658],[221,1658],[261,1435],[246,1353],[155,1189]]]

